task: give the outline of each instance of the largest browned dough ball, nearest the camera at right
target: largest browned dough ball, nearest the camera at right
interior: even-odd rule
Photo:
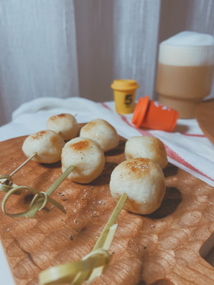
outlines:
[[[110,191],[116,201],[124,192],[128,195],[123,208],[129,212],[151,214],[165,195],[165,177],[154,160],[125,160],[111,173]]]

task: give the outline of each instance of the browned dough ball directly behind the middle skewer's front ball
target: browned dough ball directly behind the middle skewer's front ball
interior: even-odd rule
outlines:
[[[95,119],[81,128],[80,136],[96,140],[101,145],[103,152],[113,150],[118,146],[119,137],[116,129],[113,128],[106,120]]]

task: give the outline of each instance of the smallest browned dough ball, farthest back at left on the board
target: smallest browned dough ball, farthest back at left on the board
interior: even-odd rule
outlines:
[[[80,127],[76,121],[76,118],[71,114],[54,115],[47,120],[46,128],[48,130],[54,130],[61,135],[63,140],[71,140],[75,138]]]

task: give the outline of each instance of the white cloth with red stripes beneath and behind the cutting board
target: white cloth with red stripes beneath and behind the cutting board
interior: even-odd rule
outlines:
[[[0,128],[0,141],[44,130],[46,120],[60,113],[76,115],[78,123],[102,118],[127,139],[133,135],[154,135],[165,144],[169,162],[214,187],[214,145],[203,135],[195,119],[178,120],[172,133],[143,130],[136,129],[131,123],[133,114],[116,113],[114,102],[94,103],[84,98],[38,98],[14,111],[11,123]],[[12,285],[14,281],[1,246],[0,257],[2,284]]]

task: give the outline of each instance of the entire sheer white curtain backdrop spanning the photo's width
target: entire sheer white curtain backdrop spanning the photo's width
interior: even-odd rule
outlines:
[[[157,99],[158,45],[185,30],[214,35],[213,0],[0,0],[0,125],[38,97],[113,100],[116,78]]]

